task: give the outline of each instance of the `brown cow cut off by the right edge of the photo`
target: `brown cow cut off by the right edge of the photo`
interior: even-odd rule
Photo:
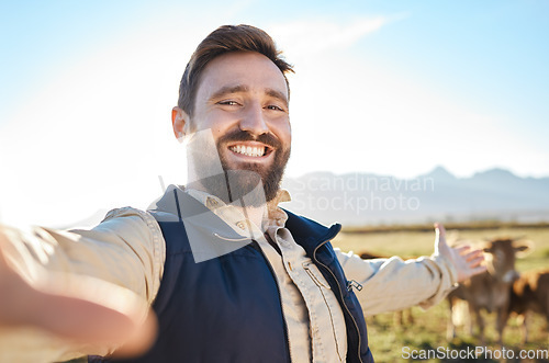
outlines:
[[[549,324],[549,269],[531,270],[520,274],[511,290],[509,313],[518,315],[523,343],[528,342],[528,313],[545,316]]]

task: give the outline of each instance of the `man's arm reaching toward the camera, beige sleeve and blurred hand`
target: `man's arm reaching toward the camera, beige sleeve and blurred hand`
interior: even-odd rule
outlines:
[[[146,349],[164,264],[158,237],[154,218],[133,208],[91,230],[0,226],[0,361],[119,353],[125,341],[126,353]]]

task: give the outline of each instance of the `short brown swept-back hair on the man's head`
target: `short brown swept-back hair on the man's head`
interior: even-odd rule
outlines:
[[[199,44],[181,78],[177,105],[189,116],[192,117],[194,112],[194,99],[205,66],[215,57],[231,52],[257,52],[272,60],[282,72],[290,92],[285,73],[293,72],[293,68],[281,57],[282,52],[277,49],[269,34],[251,25],[222,25]]]

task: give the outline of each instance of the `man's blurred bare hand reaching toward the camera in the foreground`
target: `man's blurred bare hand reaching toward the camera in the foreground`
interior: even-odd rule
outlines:
[[[101,304],[61,287],[33,286],[8,262],[3,249],[9,241],[0,229],[0,328],[35,327],[74,344],[123,345],[122,354],[138,354],[156,334],[153,314],[143,319],[139,304],[128,291],[96,281],[96,291],[120,294],[125,304]],[[91,286],[87,286],[91,287]],[[89,294],[87,294],[89,295]]]

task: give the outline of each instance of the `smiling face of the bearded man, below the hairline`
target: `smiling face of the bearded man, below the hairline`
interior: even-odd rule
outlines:
[[[211,129],[225,171],[257,173],[255,180],[249,172],[236,175],[234,180],[244,189],[233,191],[232,200],[249,192],[259,178],[266,200],[274,197],[290,156],[291,127],[288,87],[270,59],[251,52],[228,53],[208,64],[187,132],[203,129]],[[192,162],[194,168],[203,168],[208,160]]]

